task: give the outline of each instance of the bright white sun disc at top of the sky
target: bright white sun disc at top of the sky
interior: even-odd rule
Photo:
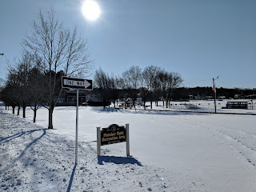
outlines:
[[[86,0],[82,4],[82,14],[88,20],[95,20],[101,14],[101,10],[98,6],[98,3],[93,0]]]

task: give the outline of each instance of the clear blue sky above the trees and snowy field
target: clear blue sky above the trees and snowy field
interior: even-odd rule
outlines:
[[[0,78],[6,59],[19,57],[20,42],[40,9],[53,7],[64,26],[78,27],[95,69],[122,74],[130,66],[178,72],[182,86],[256,88],[255,0],[98,0],[102,14],[87,21],[82,0],[2,0]],[[91,77],[92,78],[92,77]]]

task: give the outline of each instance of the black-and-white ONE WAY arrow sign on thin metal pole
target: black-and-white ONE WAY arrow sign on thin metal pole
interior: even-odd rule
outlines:
[[[93,90],[93,81],[83,78],[70,78],[62,76],[62,88]]]

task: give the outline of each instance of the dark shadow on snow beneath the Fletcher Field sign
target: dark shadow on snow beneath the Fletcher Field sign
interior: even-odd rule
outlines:
[[[136,158],[98,155],[98,164],[104,165],[103,162],[113,162],[114,164],[137,164],[138,166],[142,166],[142,163],[138,162]]]

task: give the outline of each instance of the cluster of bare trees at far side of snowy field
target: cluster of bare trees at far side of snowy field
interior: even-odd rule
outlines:
[[[107,74],[102,69],[96,70],[94,74],[94,85],[102,96],[103,102],[114,103],[119,98],[131,98],[132,103],[126,106],[135,107],[136,99],[142,98],[143,106],[146,101],[152,102],[159,99],[166,105],[173,97],[174,89],[182,84],[182,77],[175,72],[168,72],[158,66],[146,66],[142,70],[139,66],[131,66],[121,76]]]

